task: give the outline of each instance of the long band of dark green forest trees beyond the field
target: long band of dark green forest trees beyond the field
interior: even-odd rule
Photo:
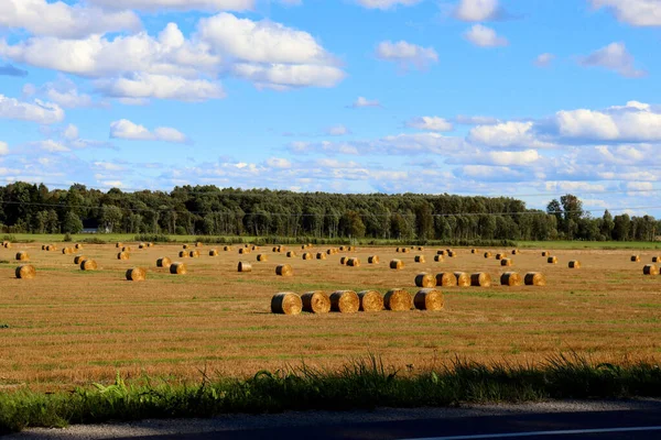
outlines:
[[[389,240],[653,241],[651,216],[600,217],[565,195],[546,210],[509,197],[329,194],[216,186],[106,193],[72,185],[0,186],[3,233],[123,232],[198,235],[373,238]]]

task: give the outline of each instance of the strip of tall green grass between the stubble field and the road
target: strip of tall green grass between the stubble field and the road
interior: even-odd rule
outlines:
[[[95,384],[71,393],[0,394],[0,433],[26,427],[63,427],[107,420],[210,417],[227,413],[306,409],[454,406],[463,403],[559,398],[661,397],[661,369],[654,362],[595,364],[559,354],[538,366],[455,362],[437,371],[400,374],[375,356],[339,371],[305,365],[261,371],[248,380],[209,380],[170,385],[144,378]]]

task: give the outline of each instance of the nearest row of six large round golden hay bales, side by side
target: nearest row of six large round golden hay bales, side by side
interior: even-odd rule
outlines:
[[[423,288],[415,296],[402,288],[388,290],[381,295],[377,290],[336,290],[328,295],[323,290],[307,292],[301,296],[292,292],[275,294],[271,298],[271,312],[280,315],[311,314],[355,314],[357,311],[407,311],[442,310],[443,293],[435,288]]]

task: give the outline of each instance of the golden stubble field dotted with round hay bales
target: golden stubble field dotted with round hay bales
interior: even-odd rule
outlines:
[[[356,252],[303,261],[262,246],[239,255],[239,246],[204,245],[199,258],[180,258],[182,245],[132,248],[128,261],[117,260],[115,245],[84,245],[98,271],[84,272],[74,255],[41,250],[42,243],[0,249],[0,389],[29,384],[63,387],[141,374],[193,380],[248,376],[262,369],[288,365],[335,367],[355,358],[376,354],[403,371],[442,365],[456,355],[475,361],[535,363],[561,351],[584,353],[595,360],[658,359],[661,353],[661,276],[643,276],[653,252],[557,251],[551,265],[541,250],[522,250],[512,267],[486,260],[484,249],[436,263],[436,249],[408,254],[394,248],[359,248]],[[62,244],[57,244],[62,249]],[[219,255],[208,256],[209,249]],[[328,246],[313,248],[311,252]],[[36,267],[34,279],[17,279],[15,253],[28,251]],[[491,249],[507,252],[510,249]],[[269,261],[257,262],[266,253]],[[377,254],[381,263],[367,264]],[[426,263],[414,263],[416,254]],[[358,256],[360,267],[339,264],[340,256]],[[156,258],[183,261],[187,275],[158,268]],[[401,258],[401,271],[389,268]],[[583,267],[571,270],[570,260]],[[238,273],[239,261],[252,264]],[[292,277],[275,275],[277,264],[289,263]],[[148,268],[148,280],[126,280],[129,267]],[[420,272],[488,272],[491,287],[447,287],[445,310],[355,315],[282,316],[270,312],[278,292],[323,289],[418,288]],[[499,285],[506,271],[542,272],[544,287]],[[407,365],[409,365],[407,367]]]

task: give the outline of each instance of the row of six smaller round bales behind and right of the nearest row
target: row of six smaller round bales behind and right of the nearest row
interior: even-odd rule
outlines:
[[[539,272],[529,272],[523,277],[517,272],[506,272],[500,276],[501,286],[545,286],[546,278]],[[423,288],[442,287],[490,287],[491,275],[486,272],[441,272],[436,275],[423,272],[415,276],[415,286]]]

